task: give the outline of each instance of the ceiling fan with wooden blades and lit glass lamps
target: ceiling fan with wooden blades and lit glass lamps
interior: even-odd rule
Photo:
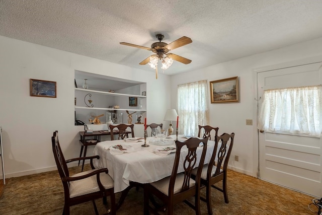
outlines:
[[[151,48],[145,47],[145,46],[140,46],[140,45],[134,45],[131,43],[126,43],[126,42],[120,42],[120,44],[132,46],[132,47],[136,47],[136,48],[146,49],[146,50],[149,50],[149,51],[152,51],[153,53],[155,53],[155,54],[148,56],[144,60],[142,60],[139,64],[145,65],[148,63],[151,66],[151,68],[155,68],[156,79],[157,79],[157,61],[158,60],[162,60],[162,64],[163,64],[162,68],[163,69],[169,68],[173,63],[173,60],[179,61],[184,64],[191,63],[190,59],[179,56],[177,54],[168,53],[170,50],[173,50],[175,48],[179,48],[181,46],[192,43],[192,40],[189,37],[183,36],[183,37],[168,44],[165,42],[161,42],[165,37],[164,35],[156,34],[155,36],[159,42],[152,43]]]

